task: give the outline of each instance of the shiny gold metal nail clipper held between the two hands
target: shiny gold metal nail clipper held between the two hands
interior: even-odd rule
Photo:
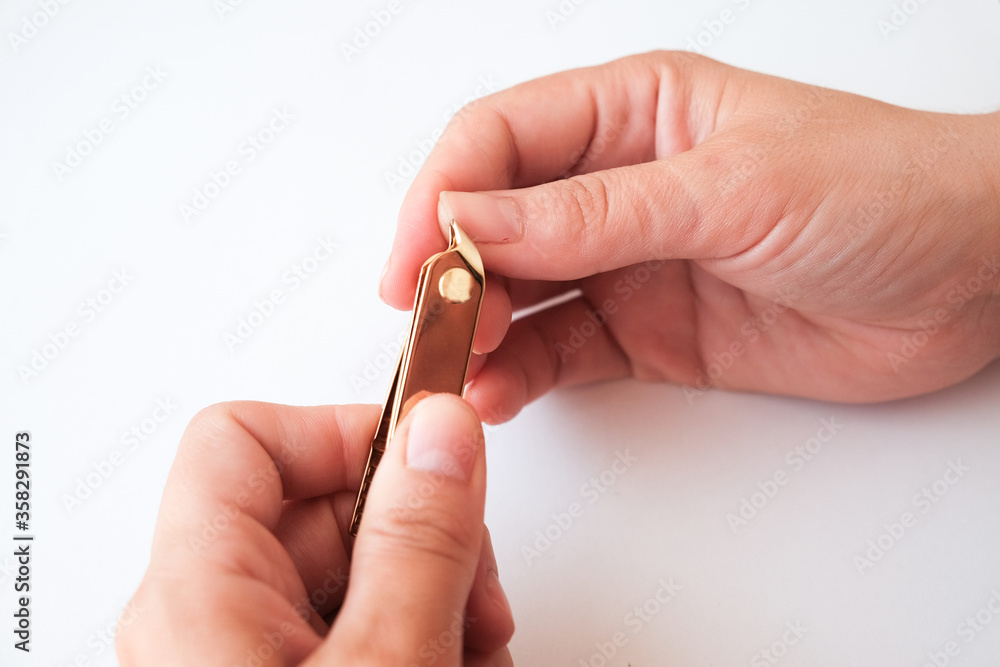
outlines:
[[[479,251],[452,220],[448,249],[428,259],[420,268],[410,333],[400,350],[396,373],[382,405],[382,417],[354,505],[351,535],[358,534],[375,468],[392,440],[396,424],[429,394],[462,395],[485,285]]]

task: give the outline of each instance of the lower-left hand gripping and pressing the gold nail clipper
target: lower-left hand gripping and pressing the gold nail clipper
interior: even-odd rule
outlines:
[[[250,402],[199,413],[123,614],[122,667],[510,665],[482,429],[461,399],[430,396],[400,422],[352,555],[378,416]]]

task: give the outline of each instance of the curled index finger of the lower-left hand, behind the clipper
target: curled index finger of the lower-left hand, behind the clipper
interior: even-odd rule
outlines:
[[[271,531],[285,500],[357,489],[377,419],[374,405],[237,401],[202,410],[167,479],[154,557],[186,548],[227,512]]]

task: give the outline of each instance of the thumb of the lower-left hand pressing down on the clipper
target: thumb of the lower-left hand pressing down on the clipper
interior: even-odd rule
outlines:
[[[483,544],[486,457],[473,409],[429,396],[399,424],[365,504],[344,606],[321,664],[460,664]]]

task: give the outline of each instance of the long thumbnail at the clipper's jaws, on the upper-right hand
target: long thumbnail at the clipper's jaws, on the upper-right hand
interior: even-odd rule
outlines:
[[[524,235],[520,206],[503,195],[442,192],[438,218],[442,225],[458,221],[477,243],[513,243]]]

